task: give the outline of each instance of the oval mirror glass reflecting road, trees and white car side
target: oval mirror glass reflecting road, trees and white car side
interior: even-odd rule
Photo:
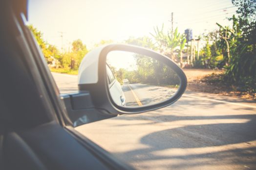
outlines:
[[[107,54],[107,81],[113,101],[123,107],[166,101],[180,85],[176,72],[165,63],[128,51]]]

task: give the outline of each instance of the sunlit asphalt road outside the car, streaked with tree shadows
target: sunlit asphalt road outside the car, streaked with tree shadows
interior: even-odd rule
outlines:
[[[76,76],[53,76],[61,92],[77,90]],[[76,130],[136,169],[256,170],[255,102],[185,92],[169,107]]]

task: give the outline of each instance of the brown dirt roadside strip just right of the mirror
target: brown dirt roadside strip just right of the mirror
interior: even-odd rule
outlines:
[[[210,74],[220,74],[223,70],[213,69],[183,69],[188,79],[187,90],[194,92],[213,93],[223,96],[238,97],[245,100],[256,101],[255,94],[241,93],[231,87],[213,85],[203,81],[204,77]]]

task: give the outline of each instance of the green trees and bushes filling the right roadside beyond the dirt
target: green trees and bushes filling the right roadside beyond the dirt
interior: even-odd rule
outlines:
[[[256,88],[256,1],[232,0],[240,16],[233,16],[233,26],[219,26],[214,34],[205,35],[206,45],[200,52],[205,68],[226,68],[225,80],[237,86]],[[213,35],[213,34],[212,34]],[[210,43],[211,42],[211,43]]]

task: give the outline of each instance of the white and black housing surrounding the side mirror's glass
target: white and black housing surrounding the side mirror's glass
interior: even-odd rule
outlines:
[[[153,105],[141,107],[122,107],[113,102],[107,84],[106,58],[110,51],[129,51],[150,56],[156,60],[161,61],[173,69],[180,78],[180,88],[169,100],[159,102]],[[145,48],[124,45],[124,44],[110,44],[103,47],[98,47],[93,51],[88,52],[83,58],[78,71],[78,89],[79,92],[89,91],[93,105],[98,110],[111,115],[117,114],[136,114],[156,110],[166,107],[173,102],[176,102],[187,87],[187,78],[184,72],[177,64],[170,58],[151,51]]]

